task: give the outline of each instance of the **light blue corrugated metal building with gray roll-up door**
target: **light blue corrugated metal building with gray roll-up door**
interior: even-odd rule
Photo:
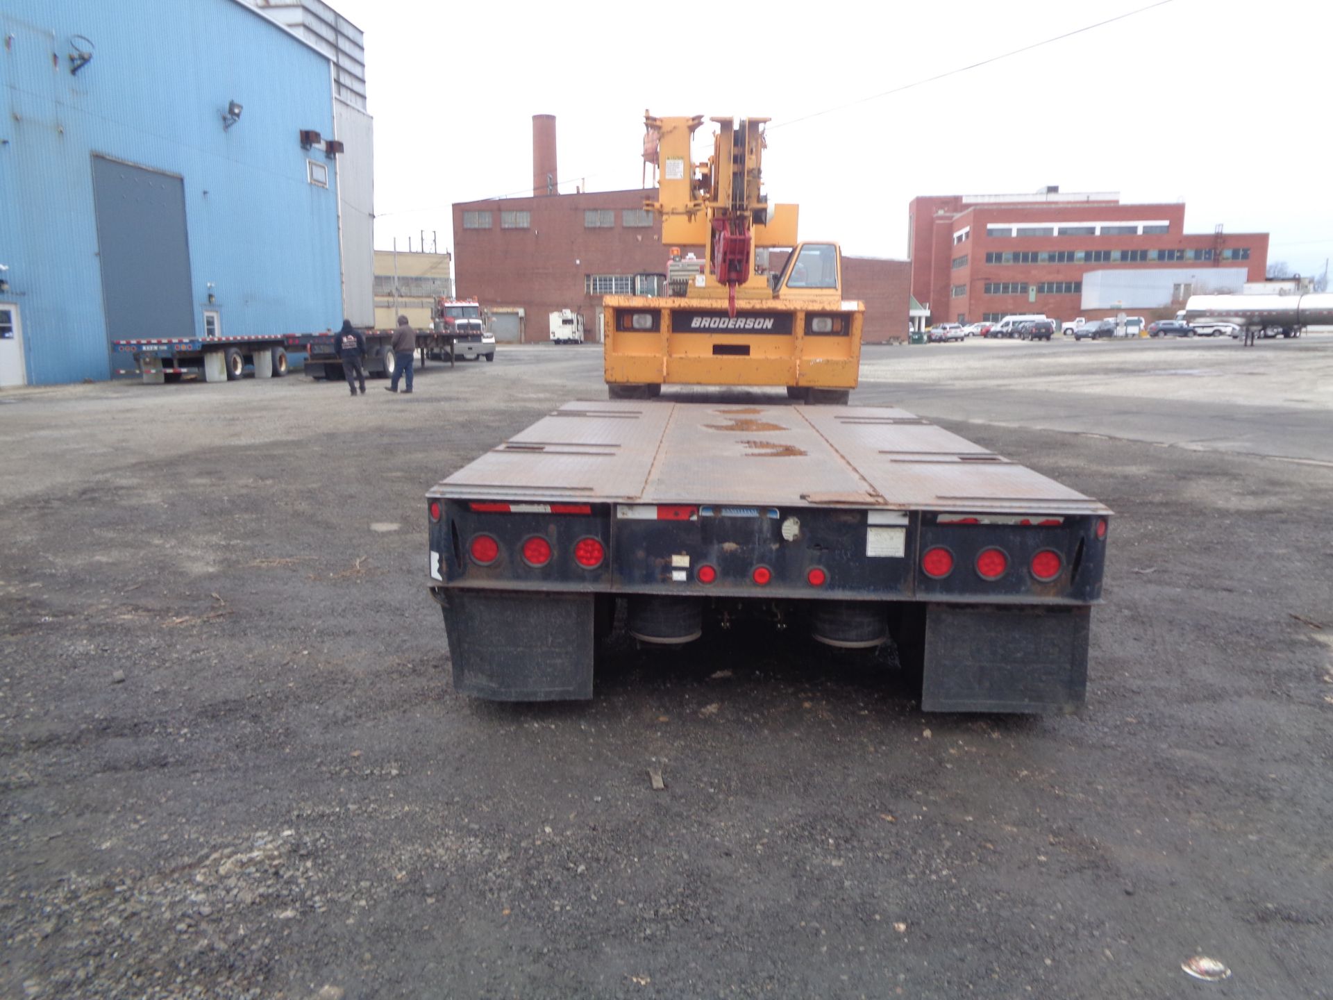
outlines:
[[[337,327],[324,55],[241,0],[4,0],[0,36],[0,372]]]

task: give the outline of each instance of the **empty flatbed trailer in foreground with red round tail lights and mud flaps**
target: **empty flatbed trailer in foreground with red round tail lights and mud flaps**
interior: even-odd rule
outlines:
[[[761,609],[892,639],[925,711],[1085,700],[1112,512],[902,409],[568,403],[427,493],[453,685],[589,699],[625,601],[645,643]]]

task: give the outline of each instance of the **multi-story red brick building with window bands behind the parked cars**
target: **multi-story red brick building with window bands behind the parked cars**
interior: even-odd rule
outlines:
[[[1184,296],[1190,272],[1201,285],[1210,272],[1230,279],[1237,269],[1258,281],[1268,265],[1268,233],[1186,233],[1184,203],[1121,204],[1116,193],[1062,195],[1058,188],[916,197],[908,205],[908,247],[912,295],[932,323],[1028,312],[1114,315],[1117,308],[1084,288],[1090,272],[1176,269],[1182,273],[1174,287]]]

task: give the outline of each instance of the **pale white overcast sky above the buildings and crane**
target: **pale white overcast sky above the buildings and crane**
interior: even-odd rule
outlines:
[[[561,191],[640,187],[649,108],[770,117],[769,197],[849,253],[906,257],[916,195],[1058,184],[1184,200],[1189,232],[1270,232],[1270,261],[1322,271],[1329,0],[1170,0],[873,97],[1148,3],[333,0],[365,31],[379,247],[452,248],[452,203],[528,193],[535,113],[556,116]]]

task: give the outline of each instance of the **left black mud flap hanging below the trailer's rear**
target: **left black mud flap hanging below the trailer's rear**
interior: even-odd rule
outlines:
[[[591,593],[439,589],[453,689],[492,701],[592,697]]]

